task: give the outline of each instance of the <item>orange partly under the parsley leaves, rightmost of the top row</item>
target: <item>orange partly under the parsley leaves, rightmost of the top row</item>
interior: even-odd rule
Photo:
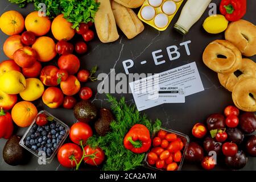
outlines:
[[[63,14],[58,15],[52,22],[52,34],[57,40],[70,40],[75,35],[75,30],[71,28],[72,23],[69,23]]]

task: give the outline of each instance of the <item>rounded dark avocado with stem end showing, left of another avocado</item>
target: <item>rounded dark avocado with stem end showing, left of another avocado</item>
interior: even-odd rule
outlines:
[[[91,102],[82,100],[75,105],[74,115],[78,121],[90,122],[97,117],[97,109]]]

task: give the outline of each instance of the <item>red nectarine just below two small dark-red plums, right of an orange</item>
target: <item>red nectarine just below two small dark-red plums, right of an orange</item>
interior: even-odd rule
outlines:
[[[67,71],[68,75],[74,75],[79,71],[80,61],[75,55],[62,55],[58,60],[58,66],[60,69]]]

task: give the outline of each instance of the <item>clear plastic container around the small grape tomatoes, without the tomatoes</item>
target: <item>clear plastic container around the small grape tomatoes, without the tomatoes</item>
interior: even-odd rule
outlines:
[[[178,163],[179,165],[179,168],[177,169],[177,171],[180,171],[181,170],[181,167],[182,167],[182,164],[183,164],[183,161],[184,161],[184,158],[185,158],[185,152],[187,151],[187,148],[188,148],[188,144],[189,144],[189,137],[188,135],[185,135],[183,133],[180,133],[178,131],[174,131],[174,130],[169,130],[169,129],[164,129],[164,128],[161,128],[160,130],[164,130],[164,131],[167,131],[167,134],[170,134],[170,133],[174,133],[177,135],[178,138],[180,138],[184,144],[184,147],[183,147],[183,150],[181,150],[181,153],[182,153],[182,157],[181,157],[181,160],[180,162]],[[160,131],[159,130],[159,131]],[[153,134],[152,134],[152,137],[151,137],[151,140],[154,139],[155,135],[158,133],[158,131],[154,131]],[[151,146],[152,148],[152,146]],[[150,150],[151,150],[150,148]],[[147,155],[148,153],[150,152],[150,150],[148,150],[147,152]],[[159,170],[159,171],[166,171],[166,169],[159,169],[159,168],[156,168],[155,166],[151,166],[150,164],[148,164],[147,162],[147,155],[146,155],[146,158],[144,159],[144,164],[147,168],[150,168],[150,169],[153,169],[153,170]]]

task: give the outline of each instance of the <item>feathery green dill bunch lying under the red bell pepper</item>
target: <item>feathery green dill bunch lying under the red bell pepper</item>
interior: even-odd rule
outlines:
[[[145,125],[152,134],[153,131],[160,129],[161,122],[157,119],[154,124],[151,123],[146,115],[139,114],[135,106],[128,106],[125,98],[117,101],[109,94],[107,94],[107,97],[115,115],[115,121],[110,123],[112,131],[103,137],[94,135],[87,140],[86,144],[104,150],[107,158],[102,169],[105,171],[128,171],[143,166],[146,153],[135,154],[127,150],[123,146],[123,138],[125,138],[130,128],[137,123]]]

